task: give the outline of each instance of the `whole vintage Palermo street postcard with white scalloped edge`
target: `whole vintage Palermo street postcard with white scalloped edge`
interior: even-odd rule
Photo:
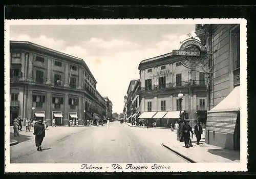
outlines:
[[[247,171],[246,23],[5,20],[5,172]]]

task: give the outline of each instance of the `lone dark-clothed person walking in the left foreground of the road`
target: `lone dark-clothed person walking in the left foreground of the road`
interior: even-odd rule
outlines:
[[[37,147],[37,151],[42,151],[42,141],[46,136],[45,125],[42,123],[42,119],[39,119],[36,125],[34,126],[33,134],[35,135],[35,146]]]

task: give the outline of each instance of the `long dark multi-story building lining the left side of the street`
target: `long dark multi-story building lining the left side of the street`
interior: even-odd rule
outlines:
[[[10,41],[10,123],[14,118],[97,119],[105,111],[83,59],[28,41]],[[83,111],[86,110],[86,113]]]

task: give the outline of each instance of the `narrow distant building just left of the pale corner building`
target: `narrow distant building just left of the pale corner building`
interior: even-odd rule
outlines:
[[[131,80],[126,95],[126,114],[129,122],[135,121],[140,113],[140,80]]]

